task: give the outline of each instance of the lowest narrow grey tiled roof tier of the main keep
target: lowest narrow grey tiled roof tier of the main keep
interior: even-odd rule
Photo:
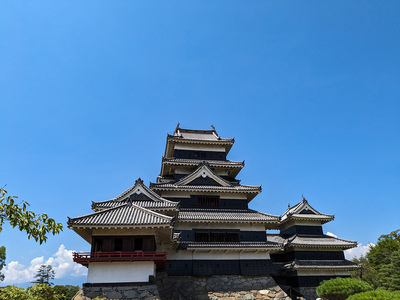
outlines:
[[[228,249],[274,249],[278,250],[282,245],[272,242],[236,242],[236,243],[222,243],[222,242],[180,242],[179,249],[213,249],[213,250],[228,250]]]

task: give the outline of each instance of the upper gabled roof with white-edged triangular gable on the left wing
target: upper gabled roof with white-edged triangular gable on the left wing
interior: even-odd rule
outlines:
[[[142,179],[135,181],[135,184],[117,197],[101,201],[92,202],[92,209],[97,211],[110,207],[117,207],[121,204],[132,203],[141,207],[154,210],[177,210],[178,203],[162,198],[157,193],[149,189]]]

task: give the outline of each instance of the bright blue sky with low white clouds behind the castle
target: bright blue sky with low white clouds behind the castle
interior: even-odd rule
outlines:
[[[0,2],[0,185],[65,229],[9,226],[6,281],[85,282],[67,216],[154,182],[167,133],[235,137],[250,207],[303,194],[362,253],[400,228],[399,1]],[[1,283],[0,283],[1,285]]]

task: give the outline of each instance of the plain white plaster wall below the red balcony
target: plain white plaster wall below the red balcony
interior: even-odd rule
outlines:
[[[96,262],[89,264],[87,282],[149,282],[149,276],[155,274],[152,261]]]

